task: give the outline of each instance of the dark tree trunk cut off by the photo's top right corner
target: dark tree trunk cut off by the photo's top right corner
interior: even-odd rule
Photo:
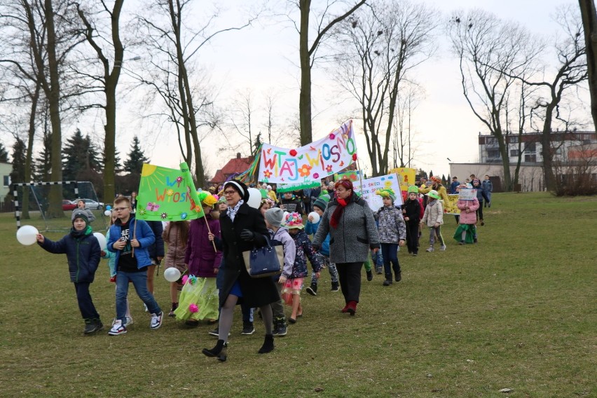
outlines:
[[[578,0],[584,27],[586,45],[586,66],[589,72],[589,93],[591,95],[591,115],[597,130],[597,12],[594,0]]]

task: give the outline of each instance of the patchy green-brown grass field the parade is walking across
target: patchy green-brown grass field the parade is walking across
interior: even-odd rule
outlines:
[[[0,214],[0,395],[597,397],[597,197],[497,193],[485,218],[478,245],[456,245],[448,216],[446,252],[403,249],[403,280],[391,287],[363,279],[355,317],[340,313],[324,271],[320,294],[303,295],[304,317],[270,354],[256,353],[259,322],[240,336],[239,308],[220,363],[200,352],[215,343],[212,327],[166,317],[152,331],[134,293],[128,334],[83,336],[65,257],[20,245],[11,214]],[[102,262],[92,296],[104,324],[114,316],[108,279]],[[170,306],[161,276],[156,299]]]

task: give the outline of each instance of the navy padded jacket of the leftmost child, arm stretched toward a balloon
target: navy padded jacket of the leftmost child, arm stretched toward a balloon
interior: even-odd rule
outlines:
[[[57,242],[44,237],[38,245],[46,252],[67,255],[71,282],[93,282],[102,249],[90,226],[83,233],[71,231]]]

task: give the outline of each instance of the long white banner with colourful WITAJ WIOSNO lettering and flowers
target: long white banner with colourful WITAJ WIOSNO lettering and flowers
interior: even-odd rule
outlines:
[[[257,181],[275,183],[320,182],[320,179],[356,160],[357,144],[352,121],[326,137],[297,149],[262,144]]]

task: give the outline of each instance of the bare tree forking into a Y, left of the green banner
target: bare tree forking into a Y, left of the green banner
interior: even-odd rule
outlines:
[[[120,34],[120,18],[124,0],[115,0],[110,9],[104,0],[99,0],[99,11],[85,9],[75,4],[78,17],[83,23],[82,34],[94,50],[97,61],[101,64],[102,73],[92,76],[102,85],[105,102],[100,105],[104,109],[106,124],[104,125],[104,198],[114,198],[116,176],[116,87],[121,75],[124,57],[124,46]],[[107,15],[104,17],[104,14]],[[104,32],[97,29],[97,19],[109,18],[109,28]],[[103,24],[102,24],[103,25]],[[105,36],[109,36],[107,39]],[[109,50],[106,50],[106,47]]]

